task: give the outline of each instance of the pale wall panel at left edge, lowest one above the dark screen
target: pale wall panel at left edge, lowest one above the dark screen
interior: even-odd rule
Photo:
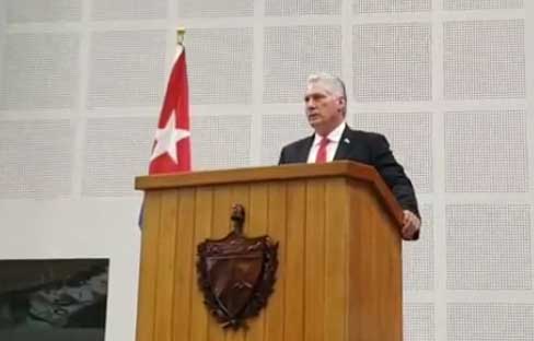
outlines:
[[[73,133],[68,119],[0,120],[0,199],[70,196]]]

